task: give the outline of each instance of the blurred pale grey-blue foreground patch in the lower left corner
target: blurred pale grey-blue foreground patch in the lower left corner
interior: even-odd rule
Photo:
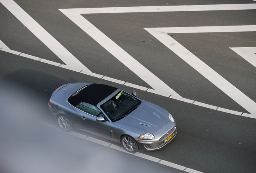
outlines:
[[[59,131],[47,104],[24,87],[0,81],[0,173],[175,171]]]

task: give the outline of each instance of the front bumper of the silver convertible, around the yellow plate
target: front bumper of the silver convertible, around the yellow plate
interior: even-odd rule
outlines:
[[[168,135],[167,135],[168,133]],[[171,134],[173,134],[173,137],[171,137],[168,141],[164,142],[165,139],[167,139]],[[156,133],[153,135],[155,136],[155,139],[152,140],[139,140],[137,139],[137,143],[139,145],[139,148],[141,151],[152,151],[157,150],[165,146],[167,143],[169,143],[177,134],[177,129],[174,123],[167,123],[164,125],[161,129],[159,129]]]

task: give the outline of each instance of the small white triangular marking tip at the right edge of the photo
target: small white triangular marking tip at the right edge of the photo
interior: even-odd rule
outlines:
[[[231,49],[256,67],[256,47],[240,47]]]

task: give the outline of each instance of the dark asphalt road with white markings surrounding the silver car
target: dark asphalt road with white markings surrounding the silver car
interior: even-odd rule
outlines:
[[[177,136],[145,155],[256,172],[256,1],[0,2],[1,172],[182,172],[47,126],[52,92],[70,82],[169,111]]]

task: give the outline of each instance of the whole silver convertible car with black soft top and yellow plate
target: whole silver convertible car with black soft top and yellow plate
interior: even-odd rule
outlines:
[[[52,93],[49,107],[64,131],[73,128],[121,143],[128,152],[160,149],[176,135],[165,109],[104,84],[69,83]]]

